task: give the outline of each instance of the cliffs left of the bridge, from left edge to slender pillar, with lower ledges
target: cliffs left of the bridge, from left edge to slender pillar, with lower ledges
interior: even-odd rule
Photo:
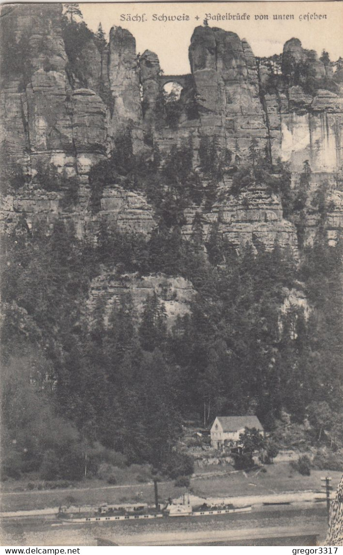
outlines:
[[[124,29],[112,29],[109,46],[100,53],[92,34],[84,31],[75,60],[72,38],[67,43],[63,40],[61,4],[18,4],[4,11],[2,50],[8,56],[3,60],[0,104],[2,150],[3,157],[21,164],[26,175],[26,184],[6,199],[4,226],[11,228],[25,213],[29,225],[62,217],[74,221],[79,235],[92,234],[102,214],[94,218],[89,210],[90,169],[107,156],[125,127],[132,129],[135,150],[142,144],[134,38]],[[68,183],[70,178],[78,184],[75,206],[65,206],[65,187],[51,181]],[[130,205],[125,191],[117,190],[117,197]],[[108,218],[111,209],[105,199]],[[140,202],[146,203],[144,195]],[[123,203],[113,221],[122,213]],[[137,210],[128,211],[137,231],[152,228],[148,221],[138,223]],[[119,228],[122,220],[119,216]]]

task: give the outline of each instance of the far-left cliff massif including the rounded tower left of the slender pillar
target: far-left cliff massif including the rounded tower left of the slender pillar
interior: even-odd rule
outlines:
[[[30,4],[8,9],[4,33],[12,40],[12,52],[1,97],[7,151],[26,163],[33,183],[38,171],[49,165],[67,177],[79,175],[81,183],[87,181],[83,176],[89,165],[104,152],[106,107],[94,90],[73,89],[69,82],[62,7]],[[25,57],[22,63],[16,52]],[[95,87],[90,73],[87,77]]]

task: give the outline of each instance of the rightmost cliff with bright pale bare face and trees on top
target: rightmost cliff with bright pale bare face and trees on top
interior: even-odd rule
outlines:
[[[301,187],[301,173],[308,163],[311,176],[307,201],[301,218],[305,244],[315,238],[320,214],[315,196],[326,190],[326,234],[331,244],[341,229],[342,194],[342,107],[341,76],[332,66],[306,51],[299,39],[290,39],[281,59],[282,75],[273,76],[259,68],[260,92],[269,123],[271,153],[289,165],[292,186]],[[295,219],[299,224],[299,215]]]

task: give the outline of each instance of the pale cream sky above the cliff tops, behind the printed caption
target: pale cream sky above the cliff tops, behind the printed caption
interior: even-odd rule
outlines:
[[[93,31],[99,22],[105,33],[113,26],[128,29],[136,39],[137,52],[149,49],[158,54],[165,74],[189,73],[188,47],[194,27],[202,24],[205,14],[250,14],[249,21],[209,21],[210,27],[233,31],[246,38],[256,56],[282,52],[284,43],[299,38],[302,46],[319,54],[326,49],[331,60],[343,56],[343,2],[206,2],[206,3],[80,3],[84,21]],[[148,21],[120,21],[120,14],[142,14]],[[326,14],[326,19],[299,21],[301,14]],[[162,16],[188,14],[189,21],[153,21]],[[268,21],[255,21],[255,14],[267,14]],[[294,14],[294,20],[274,21],[273,14]],[[195,17],[199,19],[196,20]]]

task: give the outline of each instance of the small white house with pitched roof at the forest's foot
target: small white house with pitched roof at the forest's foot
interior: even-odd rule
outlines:
[[[238,441],[245,428],[256,428],[264,435],[257,416],[217,416],[211,427],[211,446],[220,449],[225,440]]]

